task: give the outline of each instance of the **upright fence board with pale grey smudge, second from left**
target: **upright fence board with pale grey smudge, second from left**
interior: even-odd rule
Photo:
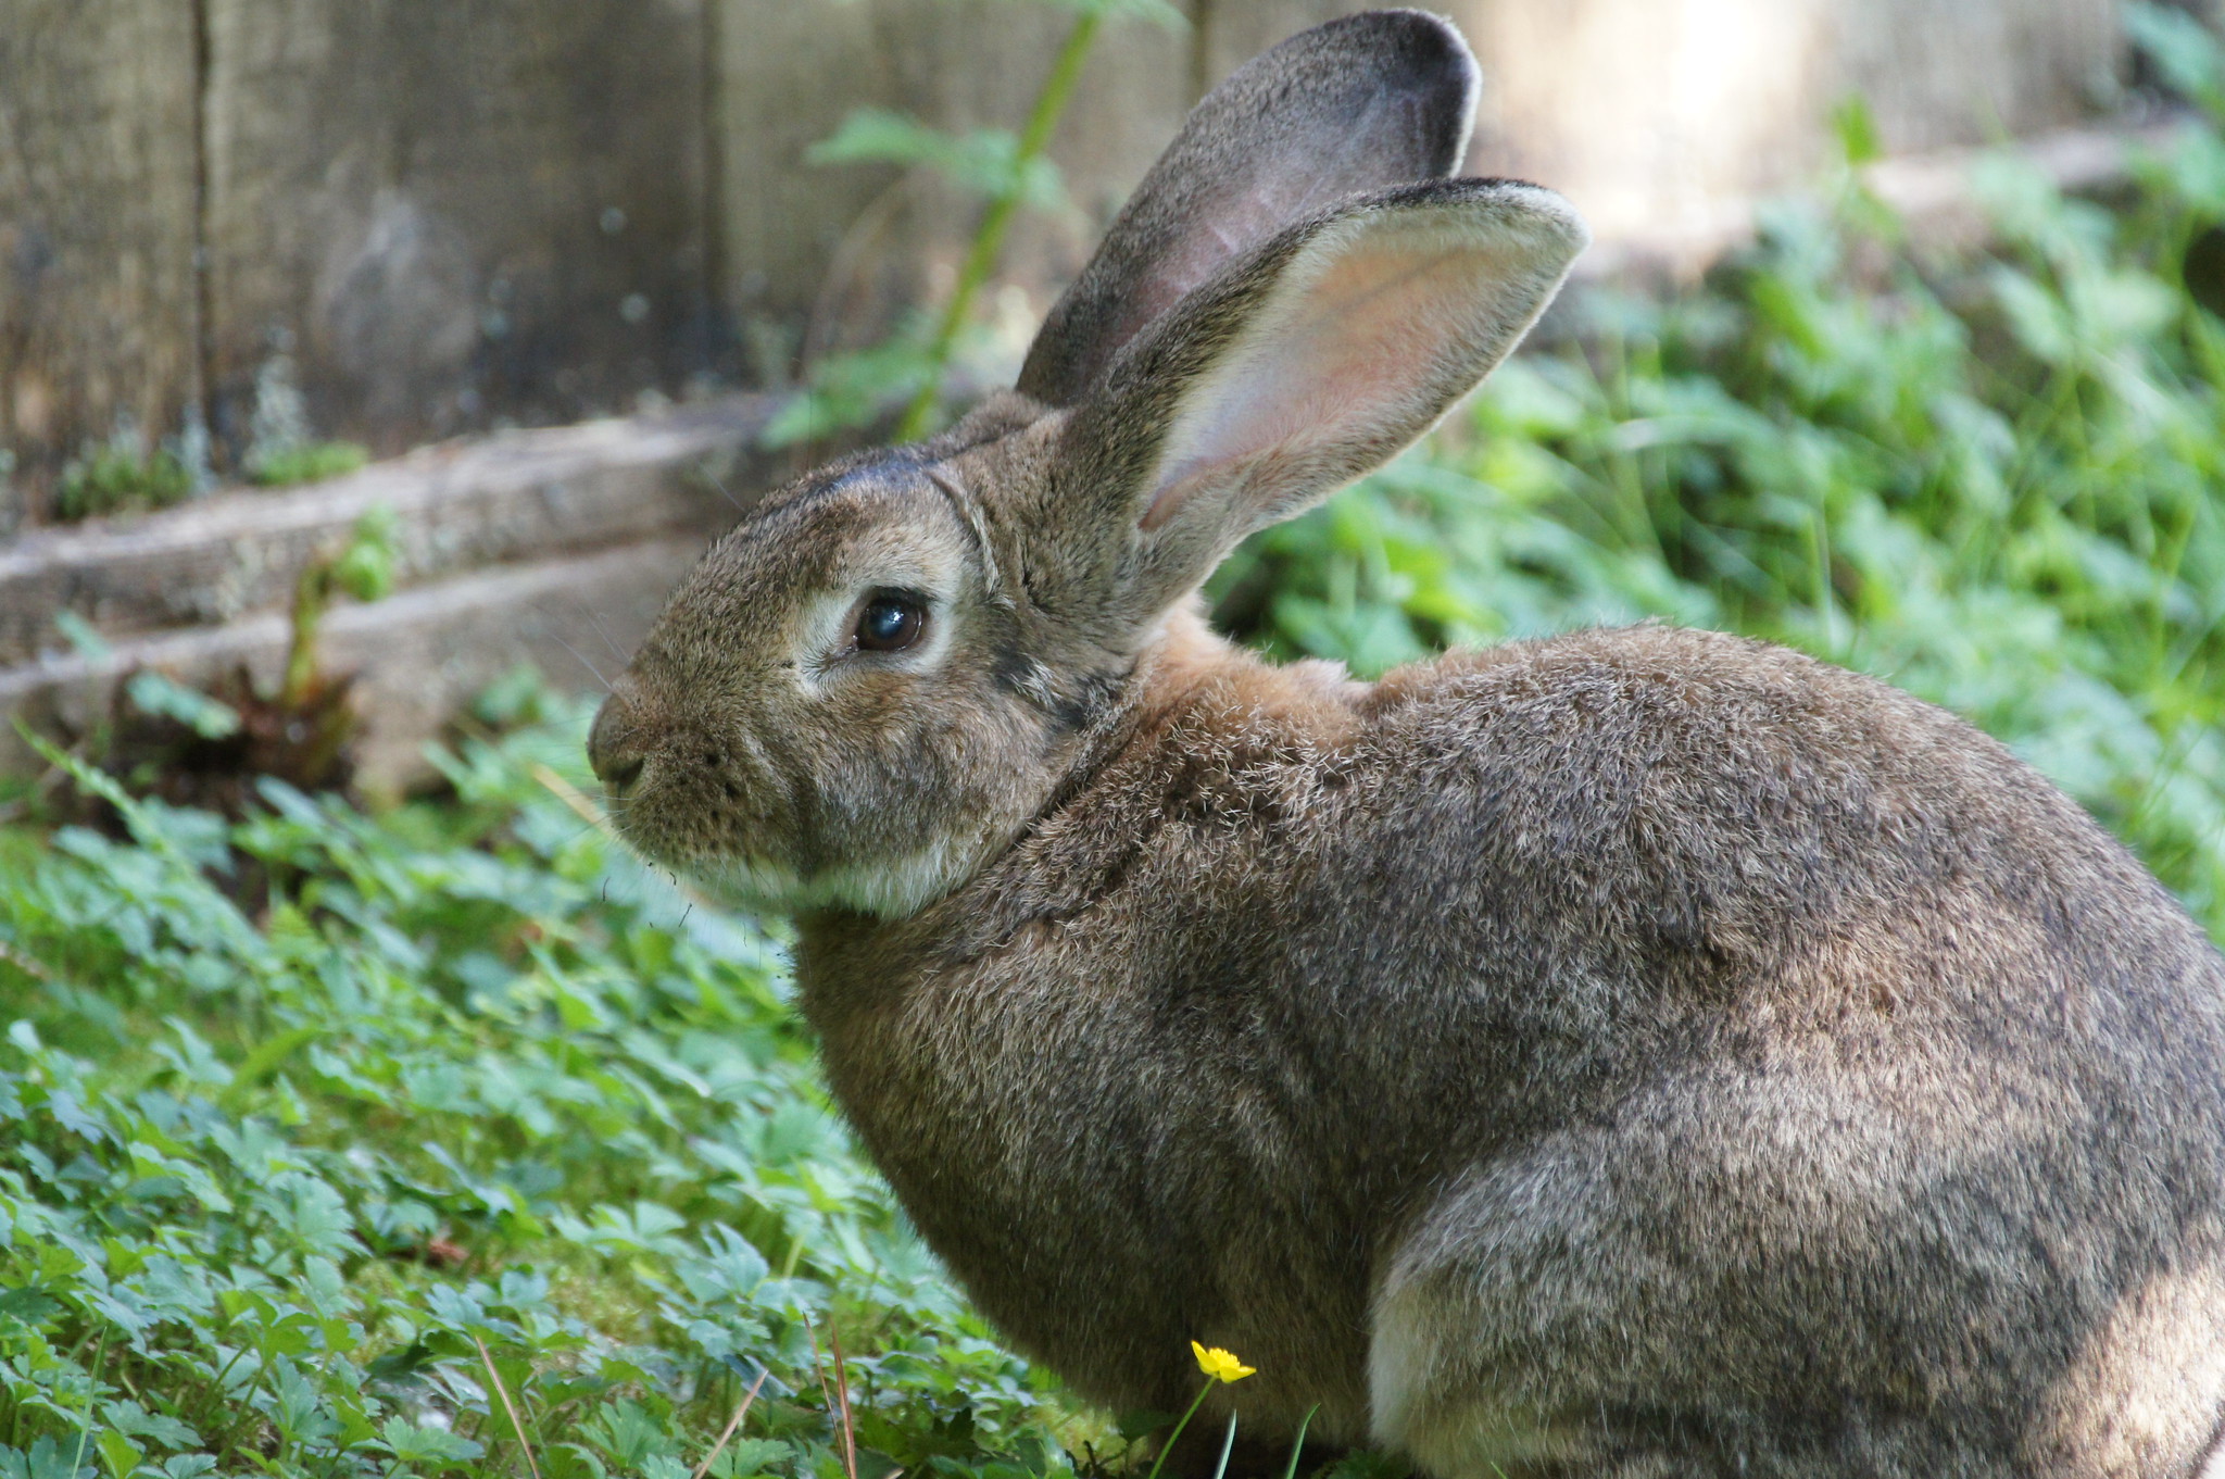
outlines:
[[[231,458],[258,376],[289,371],[318,434],[396,451],[607,414],[710,365],[701,0],[207,13],[209,360]]]

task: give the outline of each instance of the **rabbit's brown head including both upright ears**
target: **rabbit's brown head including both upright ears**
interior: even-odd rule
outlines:
[[[901,916],[1039,816],[1253,529],[1426,431],[1586,236],[1442,178],[1475,62],[1420,11],[1215,89],[1015,391],[765,498],[656,621],[590,754],[650,856],[774,910]]]

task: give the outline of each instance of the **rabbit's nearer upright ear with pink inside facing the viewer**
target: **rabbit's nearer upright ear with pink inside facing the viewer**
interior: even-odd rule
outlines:
[[[1061,431],[1055,538],[1124,621],[1253,529],[1428,431],[1529,331],[1589,242],[1566,200],[1435,180],[1293,227],[1193,291]]]

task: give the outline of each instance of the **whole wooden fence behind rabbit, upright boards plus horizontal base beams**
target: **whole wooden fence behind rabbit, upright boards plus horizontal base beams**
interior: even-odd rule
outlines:
[[[1028,218],[992,298],[1015,354],[1202,89],[1359,9],[1179,2],[1186,29],[1108,27],[1090,58],[1052,142],[1070,205]],[[1440,4],[1486,78],[1471,167],[1573,196],[1593,274],[1704,260],[1856,93],[1900,156],[1871,182],[1938,225],[1956,145],[2025,136],[2071,182],[2123,162],[2114,0]],[[11,721],[87,736],[142,667],[276,683],[294,576],[369,507],[398,516],[398,592],[325,629],[365,785],[421,776],[516,661],[590,687],[781,474],[748,387],[950,282],[963,200],[805,149],[854,107],[1015,127],[1068,24],[1044,0],[0,0],[0,774],[40,770]],[[601,411],[643,414],[498,431]],[[100,447],[222,478],[280,431],[481,429],[36,527]]]

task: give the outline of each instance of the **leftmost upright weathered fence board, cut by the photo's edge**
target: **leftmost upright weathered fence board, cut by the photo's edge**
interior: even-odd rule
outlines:
[[[191,7],[0,0],[0,534],[194,376]]]

